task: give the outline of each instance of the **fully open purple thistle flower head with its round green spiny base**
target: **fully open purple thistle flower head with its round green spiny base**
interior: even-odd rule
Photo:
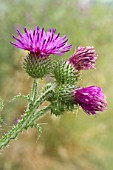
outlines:
[[[24,28],[23,34],[17,29],[18,38],[12,35],[15,42],[11,42],[11,44],[29,52],[23,62],[29,76],[44,77],[52,67],[50,55],[61,56],[72,47],[72,45],[67,45],[66,36],[60,37],[60,33],[55,34],[55,32],[54,28],[49,28],[45,32],[44,28],[36,27],[34,30]]]

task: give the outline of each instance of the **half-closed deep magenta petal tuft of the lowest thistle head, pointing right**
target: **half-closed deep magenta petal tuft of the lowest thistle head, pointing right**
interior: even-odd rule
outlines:
[[[76,89],[74,100],[88,114],[96,114],[96,111],[104,111],[107,107],[101,88],[96,86]]]

